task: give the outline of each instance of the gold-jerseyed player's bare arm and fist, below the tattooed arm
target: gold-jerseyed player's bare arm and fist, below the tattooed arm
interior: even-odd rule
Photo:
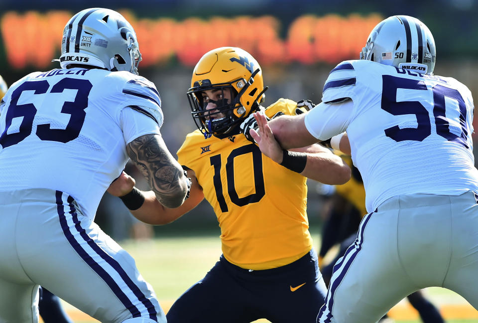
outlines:
[[[133,190],[139,191],[139,194],[143,196],[144,201],[139,208],[135,210],[130,209],[130,212],[134,217],[147,224],[167,224],[192,210],[204,199],[202,187],[199,185],[194,171],[188,169],[187,174],[192,182],[189,197],[177,208],[168,208],[162,205],[156,199],[156,195],[153,191],[139,191],[134,187],[134,179],[124,171],[110,185],[108,192],[121,198],[121,196],[129,194]]]

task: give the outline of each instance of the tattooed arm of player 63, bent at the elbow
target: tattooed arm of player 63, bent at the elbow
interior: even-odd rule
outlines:
[[[189,179],[160,135],[138,137],[126,146],[126,152],[162,205],[175,208],[184,202]]]

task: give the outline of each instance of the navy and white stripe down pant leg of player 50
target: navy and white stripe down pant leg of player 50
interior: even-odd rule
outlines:
[[[362,243],[363,243],[363,231],[370,219],[372,213],[368,213],[363,221],[360,223],[359,233],[357,234],[357,239],[355,240],[354,244],[347,249],[345,255],[339,260],[339,262],[334,266],[334,272],[332,274],[332,279],[329,285],[329,289],[327,291],[326,302],[320,309],[319,315],[317,317],[318,322],[323,323],[330,323],[332,320],[332,307],[334,305],[334,294],[337,290],[337,287],[340,285],[342,280],[344,279],[347,271],[349,270],[352,262],[357,257],[359,253]]]

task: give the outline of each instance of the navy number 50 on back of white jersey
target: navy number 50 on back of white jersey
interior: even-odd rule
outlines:
[[[417,118],[417,128],[399,128],[394,126],[385,129],[385,136],[396,142],[404,140],[423,141],[431,134],[430,117],[427,109],[418,101],[401,101],[397,102],[397,89],[411,90],[428,90],[423,81],[396,77],[391,75],[383,75],[382,89],[382,105],[381,108],[386,112],[394,115],[415,115]],[[435,117],[435,125],[437,135],[448,141],[457,142],[468,149],[467,144],[467,107],[460,92],[443,85],[437,84],[432,88],[433,91],[433,115]],[[460,109],[461,134],[456,135],[450,131],[450,122],[446,117],[445,97],[454,99],[458,102]]]

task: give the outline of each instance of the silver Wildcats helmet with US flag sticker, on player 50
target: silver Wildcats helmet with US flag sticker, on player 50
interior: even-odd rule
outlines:
[[[435,40],[430,29],[417,18],[391,16],[370,32],[360,59],[431,75],[435,68]]]

